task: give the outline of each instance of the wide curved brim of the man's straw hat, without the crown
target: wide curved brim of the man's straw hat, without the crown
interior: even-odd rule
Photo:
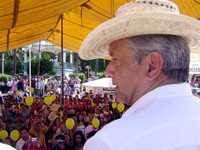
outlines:
[[[185,15],[134,13],[112,18],[91,31],[83,41],[82,59],[109,59],[109,44],[115,40],[149,34],[184,37],[191,52],[200,52],[200,21]]]

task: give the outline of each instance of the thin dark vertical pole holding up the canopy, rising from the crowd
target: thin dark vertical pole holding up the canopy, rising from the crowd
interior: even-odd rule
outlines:
[[[61,99],[60,103],[64,103],[64,62],[63,62],[63,14],[61,15]]]

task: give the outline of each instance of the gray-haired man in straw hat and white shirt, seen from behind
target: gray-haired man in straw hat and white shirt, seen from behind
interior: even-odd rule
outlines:
[[[188,85],[200,22],[168,0],[120,7],[83,42],[83,59],[110,58],[117,99],[131,107],[84,150],[200,150],[200,102]]]

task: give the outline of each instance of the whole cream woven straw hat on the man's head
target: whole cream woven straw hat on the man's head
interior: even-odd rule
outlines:
[[[181,15],[168,0],[136,0],[121,6],[116,16],[91,31],[83,41],[82,59],[109,58],[115,40],[147,34],[178,35],[187,39],[192,52],[200,49],[200,21]]]

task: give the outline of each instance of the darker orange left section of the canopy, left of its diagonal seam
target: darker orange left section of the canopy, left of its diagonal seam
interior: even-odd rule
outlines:
[[[1,0],[0,50],[47,39],[60,15],[87,0]]]

